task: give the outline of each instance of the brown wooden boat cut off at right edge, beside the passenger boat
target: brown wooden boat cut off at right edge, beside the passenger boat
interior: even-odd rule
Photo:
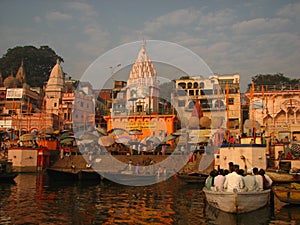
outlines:
[[[300,190],[291,189],[288,187],[273,187],[275,196],[282,202],[289,204],[300,204]]]

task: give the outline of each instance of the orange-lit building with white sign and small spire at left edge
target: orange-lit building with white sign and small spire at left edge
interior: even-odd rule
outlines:
[[[30,87],[25,80],[22,62],[15,77],[10,75],[0,82],[0,129],[10,130],[11,134],[31,131],[41,117],[43,89]]]

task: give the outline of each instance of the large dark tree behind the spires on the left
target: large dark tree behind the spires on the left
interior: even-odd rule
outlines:
[[[3,79],[11,74],[15,75],[23,62],[26,83],[30,86],[42,87],[48,81],[57,59],[64,62],[63,58],[48,46],[40,46],[40,48],[17,46],[8,49],[6,54],[0,58],[0,72]]]

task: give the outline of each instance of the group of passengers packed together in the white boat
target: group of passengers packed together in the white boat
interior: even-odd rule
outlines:
[[[227,170],[213,170],[205,181],[205,187],[212,191],[245,192],[263,191],[272,186],[272,179],[263,169],[254,167],[246,173],[238,165],[229,163]]]

